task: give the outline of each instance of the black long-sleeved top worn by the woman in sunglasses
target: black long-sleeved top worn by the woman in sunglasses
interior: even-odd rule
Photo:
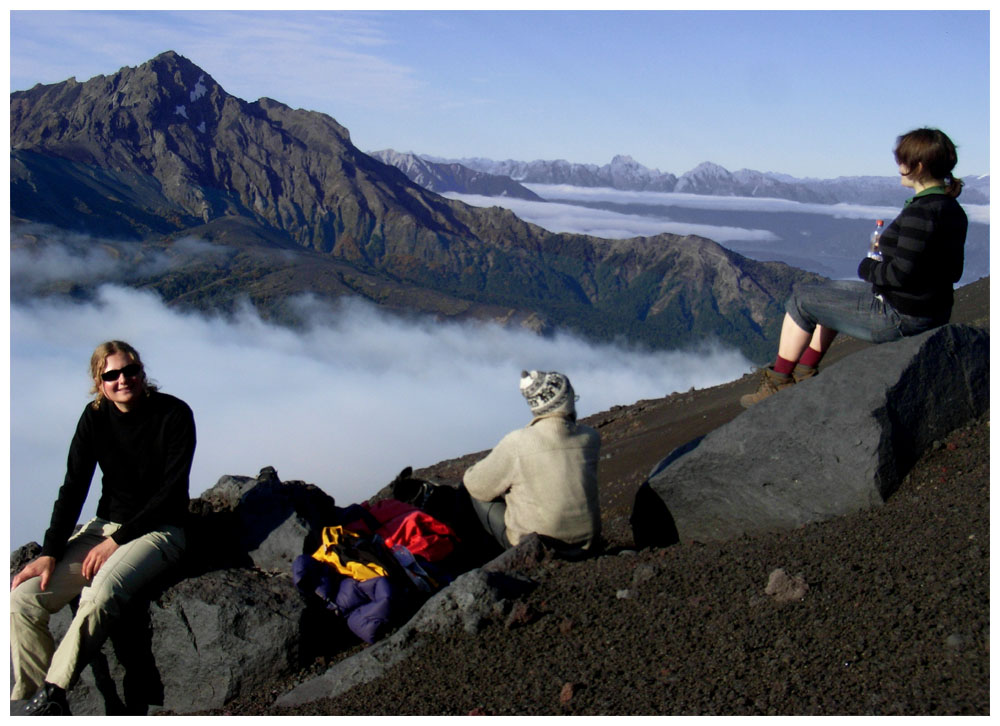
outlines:
[[[128,413],[106,399],[97,409],[88,404],[70,443],[42,554],[62,556],[97,465],[103,473],[97,516],[122,525],[115,542],[183,526],[194,447],[194,415],[179,398],[153,392]]]

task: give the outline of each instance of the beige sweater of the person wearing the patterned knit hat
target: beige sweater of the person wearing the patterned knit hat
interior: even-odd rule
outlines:
[[[463,480],[480,501],[505,499],[512,545],[537,532],[586,549],[601,532],[600,452],[597,431],[564,414],[547,414],[504,436]]]

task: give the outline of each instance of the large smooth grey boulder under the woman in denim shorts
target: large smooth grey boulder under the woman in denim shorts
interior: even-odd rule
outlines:
[[[725,540],[881,504],[935,440],[989,405],[985,330],[947,325],[867,348],[661,461],[636,497],[637,544]]]

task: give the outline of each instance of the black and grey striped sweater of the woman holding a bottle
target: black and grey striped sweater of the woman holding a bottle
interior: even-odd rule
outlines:
[[[903,315],[947,322],[953,285],[965,265],[969,221],[941,187],[907,200],[879,240],[882,261],[865,259],[858,276]]]

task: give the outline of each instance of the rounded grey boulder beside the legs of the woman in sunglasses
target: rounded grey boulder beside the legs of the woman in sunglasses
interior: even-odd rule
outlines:
[[[216,570],[181,580],[118,624],[69,692],[74,715],[183,714],[226,703],[302,665],[303,603],[288,575]],[[71,613],[51,624],[57,641]]]

